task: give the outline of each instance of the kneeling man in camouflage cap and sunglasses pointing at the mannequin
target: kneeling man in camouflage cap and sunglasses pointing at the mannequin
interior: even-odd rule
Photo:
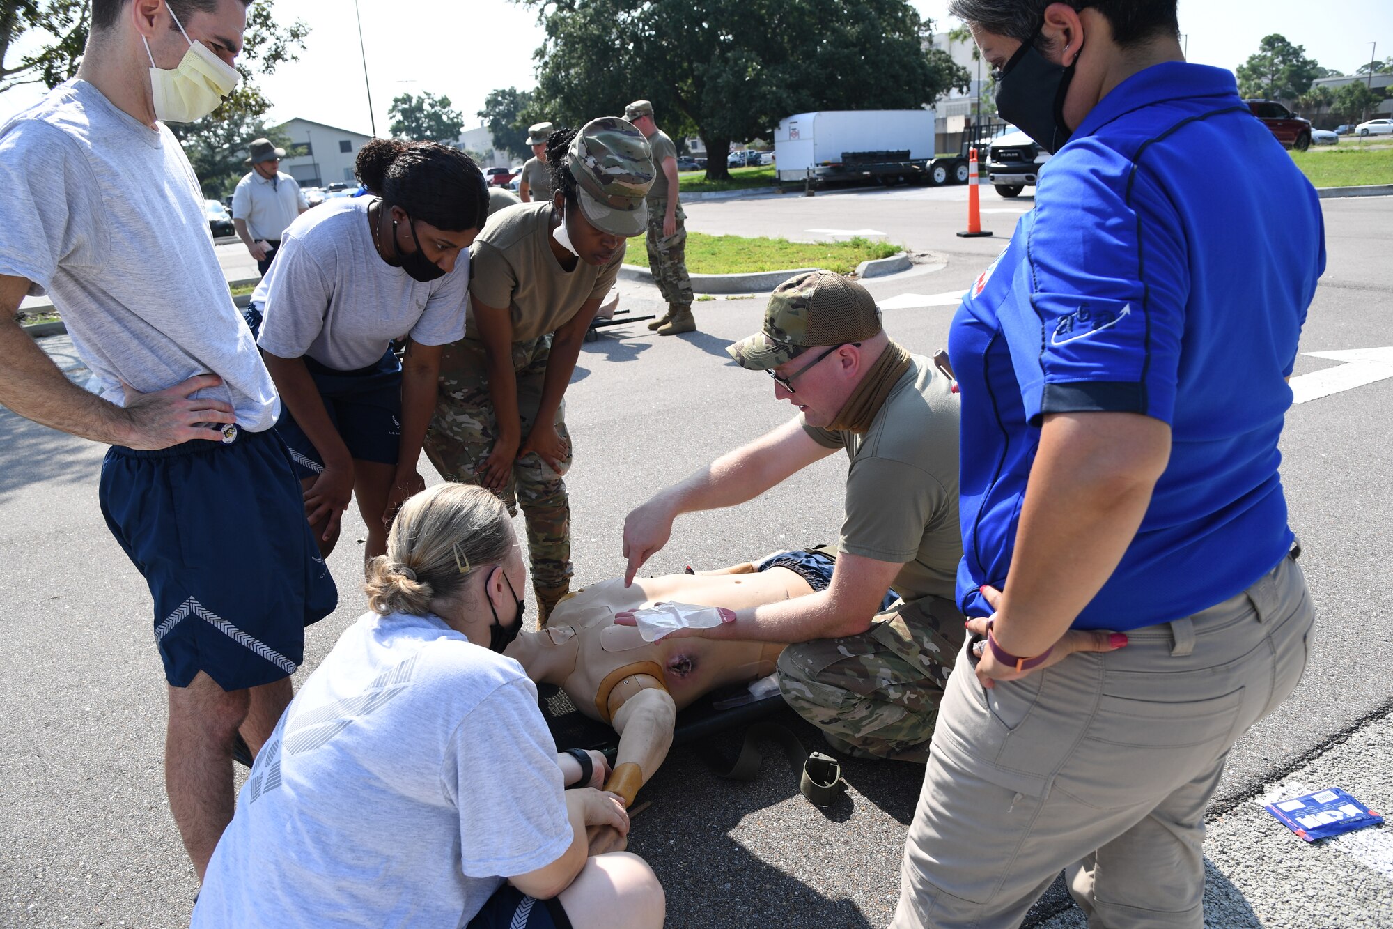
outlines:
[[[727,349],[775,378],[798,416],[624,520],[625,580],[673,520],[754,499],[839,449],[850,459],[832,584],[673,635],[788,642],[780,688],[800,716],[854,755],[924,762],[943,685],[963,644],[953,603],[958,534],[958,399],[924,356],[880,328],[858,283],[829,271],[786,280],[763,329]],[[901,600],[880,612],[886,587]]]

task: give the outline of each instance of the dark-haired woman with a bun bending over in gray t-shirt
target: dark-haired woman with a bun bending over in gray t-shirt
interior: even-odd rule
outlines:
[[[468,248],[489,191],[468,155],[435,142],[373,139],[357,172],[373,197],[327,201],[281,237],[284,262],[259,289],[258,345],[320,552],[333,551],[357,494],[371,559],[397,506],[423,487],[417,460],[440,352],[464,335]],[[390,343],[403,336],[397,361]]]

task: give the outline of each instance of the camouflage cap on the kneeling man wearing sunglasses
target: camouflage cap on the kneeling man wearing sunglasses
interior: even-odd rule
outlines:
[[[880,308],[865,287],[830,271],[790,278],[769,296],[765,326],[726,347],[740,367],[777,368],[814,346],[862,342],[880,332]]]

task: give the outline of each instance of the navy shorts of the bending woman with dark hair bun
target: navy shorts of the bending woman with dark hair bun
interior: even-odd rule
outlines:
[[[309,357],[302,361],[348,453],[359,462],[396,464],[401,444],[401,363],[391,349],[376,364],[357,371],[334,371]],[[290,446],[297,477],[325,470],[325,459],[284,405],[276,431]]]

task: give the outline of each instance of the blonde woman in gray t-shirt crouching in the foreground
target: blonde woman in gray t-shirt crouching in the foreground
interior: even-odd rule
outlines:
[[[258,755],[195,928],[662,926],[623,799],[598,790],[605,756],[557,753],[501,654],[525,582],[489,491],[437,484],[401,506],[368,562],[371,611]]]

